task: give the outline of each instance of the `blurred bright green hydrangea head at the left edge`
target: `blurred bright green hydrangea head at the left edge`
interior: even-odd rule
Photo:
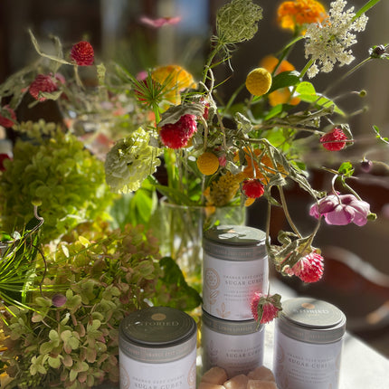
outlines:
[[[0,176],[3,229],[21,229],[39,202],[43,242],[61,237],[78,223],[104,215],[113,198],[104,166],[77,138],[44,121],[22,123],[14,159]],[[17,177],[17,179],[15,179]]]

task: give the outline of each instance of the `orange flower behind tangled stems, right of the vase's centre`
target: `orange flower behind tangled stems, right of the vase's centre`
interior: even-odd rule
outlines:
[[[244,157],[246,158],[247,166],[243,169],[243,174],[247,178],[258,178],[262,181],[263,184],[268,184],[270,179],[269,176],[271,175],[280,173],[282,176],[288,176],[283,166],[274,166],[271,158],[267,154],[261,155],[262,152],[263,150],[256,148],[253,150],[252,155],[250,150],[245,149]],[[258,162],[261,164],[261,166],[259,166]]]

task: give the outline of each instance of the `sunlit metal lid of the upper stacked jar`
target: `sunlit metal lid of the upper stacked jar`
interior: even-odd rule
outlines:
[[[245,225],[217,225],[204,232],[204,251],[226,261],[250,261],[266,255],[266,233]]]

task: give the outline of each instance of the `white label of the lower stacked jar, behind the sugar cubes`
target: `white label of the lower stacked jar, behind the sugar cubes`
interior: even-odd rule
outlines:
[[[247,375],[263,363],[264,329],[246,335],[226,335],[203,326],[203,369],[223,367],[228,377]]]

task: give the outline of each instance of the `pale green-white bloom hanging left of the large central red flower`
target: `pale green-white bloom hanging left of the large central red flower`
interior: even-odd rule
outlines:
[[[106,182],[112,192],[128,193],[139,189],[161,161],[157,147],[150,146],[150,134],[138,128],[128,138],[120,139],[109,150],[105,162]]]

